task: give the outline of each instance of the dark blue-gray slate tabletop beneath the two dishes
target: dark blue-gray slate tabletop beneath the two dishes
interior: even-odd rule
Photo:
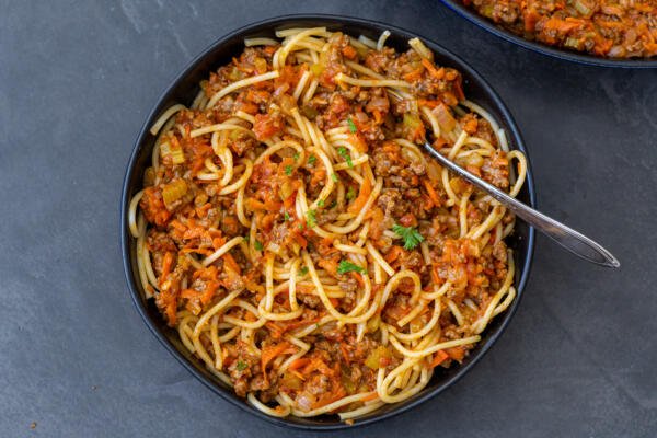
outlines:
[[[291,12],[373,18],[460,53],[530,148],[541,208],[623,263],[539,238],[510,327],[453,388],[345,437],[657,435],[657,72],[561,62],[438,1],[0,0],[0,436],[297,437],[197,382],[148,332],[120,183],[160,92],[218,36]],[[31,429],[32,422],[36,428]]]

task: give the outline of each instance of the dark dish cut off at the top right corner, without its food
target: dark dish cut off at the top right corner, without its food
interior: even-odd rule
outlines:
[[[463,16],[466,20],[470,20],[472,23],[477,26],[485,28],[504,38],[508,42],[528,48],[530,50],[538,51],[543,55],[552,56],[558,59],[565,59],[568,61],[586,64],[589,66],[601,66],[601,67],[616,67],[616,68],[657,68],[657,59],[611,59],[611,58],[598,58],[591,55],[579,54],[577,51],[570,51],[565,49],[560,49],[555,47],[548,46],[545,44],[532,42],[529,39],[525,39],[512,32],[506,31],[499,26],[497,26],[492,21],[487,20],[484,16],[481,16],[472,9],[463,5],[461,0],[441,0],[449,9]]]

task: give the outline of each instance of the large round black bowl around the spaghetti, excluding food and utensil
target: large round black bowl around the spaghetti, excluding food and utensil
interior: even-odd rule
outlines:
[[[174,79],[172,84],[159,99],[153,111],[146,119],[146,123],[141,128],[141,132],[139,132],[139,137],[135,143],[135,150],[128,163],[123,187],[120,206],[120,239],[123,261],[128,281],[128,288],[132,296],[132,300],[137,306],[137,310],[143,318],[146,324],[149,326],[155,337],[162,343],[162,345],[164,345],[164,347],[166,347],[166,349],[185,368],[187,368],[189,372],[196,376],[196,378],[204,382],[208,388],[229,402],[242,407],[245,411],[249,411],[253,415],[265,418],[278,425],[301,429],[339,429],[353,426],[341,423],[336,415],[322,416],[318,418],[269,417],[249,405],[243,399],[238,397],[231,388],[227,387],[221,381],[216,379],[210,372],[208,372],[205,369],[204,364],[196,357],[192,356],[182,345],[181,341],[178,339],[177,332],[166,326],[163,318],[158,312],[152,300],[145,300],[143,291],[138,280],[137,262],[135,257],[136,242],[135,239],[130,237],[127,222],[128,204],[132,195],[141,189],[143,170],[149,165],[151,158],[154,137],[149,134],[148,129],[158,118],[158,116],[174,103],[191,104],[193,97],[198,92],[198,82],[206,78],[210,71],[217,69],[223,64],[229,62],[233,56],[241,53],[243,49],[243,39],[245,37],[274,36],[275,30],[298,26],[326,26],[330,30],[342,31],[356,36],[362,34],[369,36],[370,38],[377,38],[382,31],[389,30],[392,32],[392,35],[388,39],[387,44],[395,47],[397,50],[406,50],[407,41],[417,36],[411,32],[368,20],[334,15],[289,15],[251,24],[219,38],[215,44],[212,44],[196,59],[194,59]],[[456,55],[426,38],[422,39],[436,54],[436,61],[438,65],[453,67],[463,73],[463,88],[468,97],[479,103],[494,115],[494,117],[500,123],[500,126],[506,129],[512,148],[520,149],[527,153],[511,115],[493,89],[491,89],[491,87],[484,81],[484,79]],[[534,205],[534,192],[531,172],[528,172],[527,183],[519,194],[519,198],[531,206]],[[527,226],[527,223],[519,221],[515,234],[512,238],[510,238],[510,246],[515,250],[517,266],[515,285],[518,289],[518,298],[516,298],[514,303],[505,313],[496,316],[493,320],[492,324],[484,332],[481,343],[471,351],[470,356],[463,361],[463,364],[447,370],[438,370],[434,374],[430,383],[420,393],[403,403],[385,405],[379,411],[357,419],[356,425],[364,425],[388,418],[437,395],[446,388],[454,383],[460,377],[462,377],[470,368],[472,368],[472,366],[474,366],[474,364],[486,353],[486,350],[491,348],[493,343],[495,343],[506,325],[509,323],[516,311],[516,308],[518,307],[520,298],[522,297],[522,290],[525,289],[528,280],[533,255],[534,230]]]

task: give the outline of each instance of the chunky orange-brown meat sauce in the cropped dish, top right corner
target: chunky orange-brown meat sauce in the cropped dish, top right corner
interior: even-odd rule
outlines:
[[[461,0],[527,39],[602,58],[657,56],[657,0]]]

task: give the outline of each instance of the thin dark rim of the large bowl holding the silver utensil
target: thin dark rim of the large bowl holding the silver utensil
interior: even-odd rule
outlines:
[[[285,25],[286,22],[295,22],[295,21],[318,21],[318,22],[322,22],[321,24],[325,24],[328,26],[332,24],[334,24],[334,25],[348,24],[348,25],[361,26],[367,30],[387,28],[387,30],[390,30],[392,33],[396,33],[399,35],[417,36],[417,37],[422,38],[423,41],[427,41],[427,42],[431,43],[431,45],[434,45],[442,50],[441,55],[449,57],[450,60],[452,60],[454,64],[458,64],[459,69],[461,71],[466,71],[468,76],[473,80],[473,82],[477,82],[481,85],[481,88],[484,90],[484,92],[491,97],[491,106],[495,107],[495,110],[499,112],[499,114],[503,116],[504,120],[506,122],[506,127],[508,127],[510,138],[514,139],[514,143],[516,145],[517,149],[521,150],[526,154],[527,154],[527,149],[525,147],[522,137],[520,135],[520,131],[518,130],[518,127],[516,126],[515,120],[514,120],[510,112],[506,107],[506,105],[502,102],[502,99],[497,95],[497,93],[488,84],[488,82],[486,82],[484,80],[484,78],[482,78],[462,58],[454,55],[452,51],[446,49],[440,44],[435,43],[431,38],[427,38],[415,32],[411,32],[411,31],[404,30],[402,27],[390,25],[388,23],[382,23],[382,22],[374,21],[374,20],[367,20],[367,19],[354,18],[354,16],[342,15],[342,14],[321,14],[321,13],[285,14],[285,15],[278,15],[278,16],[260,20],[257,22],[253,22],[253,23],[246,24],[244,26],[241,26],[234,31],[231,31],[231,32],[220,36],[219,38],[217,38],[215,42],[212,42],[210,45],[208,45],[203,51],[200,51],[199,55],[197,55],[189,62],[187,62],[187,65],[169,82],[169,84],[164,88],[162,93],[157,99],[155,103],[152,106],[152,110],[149,112],[149,114],[145,118],[145,123],[143,123],[142,127],[140,128],[137,139],[135,140],[135,143],[132,146],[132,152],[130,153],[126,173],[124,175],[124,181],[123,181],[123,185],[122,185],[122,187],[123,187],[122,196],[120,196],[119,239],[120,239],[124,275],[126,278],[128,290],[130,292],[130,297],[132,298],[132,302],[135,303],[135,307],[137,308],[138,313],[141,315],[141,319],[143,320],[143,322],[146,323],[146,325],[148,326],[150,332],[155,336],[155,338],[158,338],[158,341],[164,346],[164,348],[173,357],[175,357],[177,359],[177,361],[187,371],[189,371],[194,377],[196,377],[196,379],[198,379],[201,383],[204,383],[207,388],[209,388],[214,393],[218,394],[219,396],[221,396],[223,400],[230,402],[231,404],[239,406],[240,408],[257,416],[258,418],[262,418],[262,419],[264,419],[268,423],[275,424],[277,426],[284,426],[284,427],[301,429],[301,430],[315,430],[315,431],[350,429],[354,427],[365,426],[365,425],[372,424],[372,423],[376,423],[376,422],[379,422],[379,420],[382,420],[385,418],[393,417],[395,415],[402,414],[402,413],[424,403],[425,401],[438,395],[439,393],[445,391],[447,388],[451,387],[454,382],[457,382],[465,373],[468,373],[468,371],[476,362],[479,362],[479,360],[489,350],[489,348],[493,346],[493,344],[495,344],[497,342],[497,339],[499,338],[499,336],[504,333],[504,331],[506,330],[510,320],[512,319],[514,314],[516,313],[518,304],[520,303],[520,299],[522,298],[522,295],[523,295],[522,291],[525,290],[525,287],[529,280],[529,274],[531,270],[534,245],[535,245],[535,231],[532,227],[528,226],[527,253],[525,254],[525,257],[523,257],[522,272],[519,275],[519,281],[516,287],[517,297],[514,300],[514,302],[511,303],[510,308],[505,311],[504,319],[499,320],[499,326],[497,327],[496,332],[492,333],[485,343],[480,344],[481,345],[480,349],[477,350],[477,353],[475,355],[472,355],[472,359],[468,364],[460,366],[458,371],[456,371],[453,376],[446,379],[440,385],[426,392],[425,394],[417,396],[415,400],[404,403],[404,404],[400,404],[395,408],[391,408],[388,412],[383,412],[379,415],[366,417],[360,420],[357,419],[353,425],[346,424],[344,422],[325,423],[325,424],[293,423],[293,422],[287,420],[286,418],[273,417],[273,416],[262,413],[261,411],[256,410],[255,407],[253,407],[250,404],[247,404],[246,402],[244,402],[242,399],[238,400],[234,394],[229,394],[226,389],[220,388],[215,381],[208,379],[204,373],[201,373],[201,371],[199,369],[197,369],[197,367],[192,361],[189,361],[185,356],[183,356],[183,354],[173,344],[171,344],[169,342],[169,339],[166,338],[166,336],[159,330],[158,323],[153,319],[150,318],[150,315],[148,314],[147,308],[145,306],[145,302],[141,299],[139,286],[137,285],[137,279],[135,278],[135,276],[132,274],[131,254],[130,254],[131,235],[130,235],[128,223],[127,223],[128,205],[129,205],[130,198],[131,198],[131,196],[130,196],[130,192],[131,192],[130,177],[135,170],[137,159],[141,153],[141,149],[142,149],[141,145],[145,142],[145,139],[147,138],[147,136],[149,134],[151,120],[153,120],[158,116],[159,112],[161,111],[160,106],[166,101],[166,99],[169,97],[169,94],[173,90],[175,90],[175,88],[178,87],[182,81],[185,80],[185,78],[193,71],[193,69],[198,64],[200,64],[203,60],[205,60],[205,58],[207,56],[211,55],[211,53],[217,47],[221,46],[222,44],[230,41],[231,38],[234,38],[240,35],[244,35],[249,32],[263,30],[266,27],[274,28],[275,26]],[[535,208],[537,200],[535,200],[534,183],[533,183],[532,171],[531,171],[531,165],[530,165],[529,161],[530,160],[528,160],[528,171],[527,171],[527,178],[526,178],[525,184],[528,189],[529,204]]]

